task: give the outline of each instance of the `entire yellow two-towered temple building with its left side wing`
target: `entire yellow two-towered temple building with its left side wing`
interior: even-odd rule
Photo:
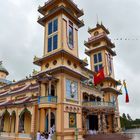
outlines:
[[[16,140],[34,140],[37,132],[50,132],[56,140],[82,140],[89,130],[120,131],[117,86],[113,57],[115,44],[103,24],[88,30],[84,42],[90,58],[79,58],[79,18],[83,10],[72,0],[49,0],[39,6],[38,23],[44,28],[44,52],[35,57],[40,71],[20,81],[8,81],[0,62],[0,134]],[[104,80],[94,85],[94,75],[104,67]]]

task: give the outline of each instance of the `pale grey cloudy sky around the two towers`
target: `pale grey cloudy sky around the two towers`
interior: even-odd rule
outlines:
[[[10,72],[8,79],[19,80],[32,73],[34,55],[42,56],[43,27],[36,21],[38,5],[45,0],[3,0],[0,2],[0,60]],[[85,26],[80,29],[80,56],[84,58],[84,40],[88,27],[99,22],[110,30],[116,43],[114,59],[117,79],[128,84],[130,103],[119,97],[120,111],[140,118],[140,1],[139,0],[75,0],[84,9]]]

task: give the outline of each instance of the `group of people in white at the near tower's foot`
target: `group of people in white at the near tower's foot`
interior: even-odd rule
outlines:
[[[50,129],[50,132],[37,132],[37,140],[52,140],[52,136],[55,133],[55,126],[53,125]]]

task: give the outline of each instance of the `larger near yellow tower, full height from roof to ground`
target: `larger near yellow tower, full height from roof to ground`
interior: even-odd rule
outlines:
[[[82,139],[80,83],[88,79],[83,72],[87,63],[78,57],[83,11],[72,0],[49,0],[38,11],[43,15],[38,23],[44,27],[43,57],[34,59],[41,67],[39,131],[50,131],[55,125],[57,140],[62,140],[75,139],[78,128]]]

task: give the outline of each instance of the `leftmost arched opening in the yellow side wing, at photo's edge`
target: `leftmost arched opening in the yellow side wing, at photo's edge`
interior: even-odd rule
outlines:
[[[10,113],[6,110],[2,116],[2,131],[10,132]]]

